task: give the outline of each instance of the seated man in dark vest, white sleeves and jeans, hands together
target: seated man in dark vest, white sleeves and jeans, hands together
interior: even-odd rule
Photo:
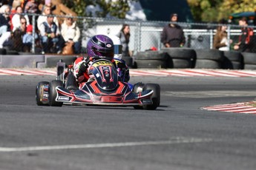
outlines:
[[[53,16],[47,16],[47,21],[40,24],[39,31],[41,35],[43,53],[59,53],[62,42],[59,39],[59,27],[53,21]]]

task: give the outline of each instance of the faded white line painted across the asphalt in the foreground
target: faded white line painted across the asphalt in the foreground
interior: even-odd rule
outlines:
[[[45,151],[45,150],[62,150],[62,149],[98,149],[98,148],[114,148],[125,146],[150,146],[150,145],[170,145],[179,143],[204,143],[211,142],[212,139],[186,138],[176,137],[171,140],[159,141],[142,141],[142,142],[127,142],[127,143],[98,143],[98,144],[82,144],[82,145],[65,145],[65,146],[30,146],[19,148],[0,147],[0,152],[29,152],[29,151]]]

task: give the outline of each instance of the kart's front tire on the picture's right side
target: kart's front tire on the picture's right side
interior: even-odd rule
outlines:
[[[152,104],[144,105],[143,109],[146,110],[155,110],[158,106],[160,106],[160,85],[159,84],[145,84],[143,90],[145,89],[153,89],[153,95],[151,95]]]

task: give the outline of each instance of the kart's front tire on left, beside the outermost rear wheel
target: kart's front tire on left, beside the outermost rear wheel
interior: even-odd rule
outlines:
[[[55,101],[57,97],[57,92],[56,92],[56,86],[63,86],[62,81],[51,81],[49,84],[49,106],[62,106],[63,103],[59,101]]]

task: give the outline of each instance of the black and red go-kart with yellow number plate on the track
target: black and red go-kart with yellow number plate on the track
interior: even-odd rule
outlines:
[[[73,65],[65,72],[65,63],[57,63],[56,80],[41,81],[36,86],[38,106],[62,106],[63,103],[81,103],[100,106],[134,106],[134,109],[154,110],[160,106],[159,84],[128,84],[122,81],[111,61],[95,56],[86,61],[90,81],[80,85],[73,74]],[[117,67],[123,67],[122,61]],[[120,64],[119,64],[120,63]]]

